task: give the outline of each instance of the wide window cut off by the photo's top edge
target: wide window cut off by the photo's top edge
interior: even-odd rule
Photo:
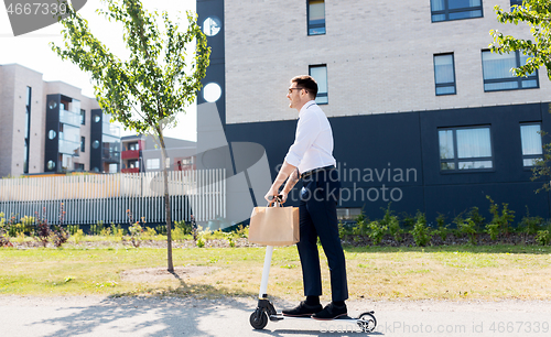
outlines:
[[[432,22],[483,17],[482,0],[431,0]]]

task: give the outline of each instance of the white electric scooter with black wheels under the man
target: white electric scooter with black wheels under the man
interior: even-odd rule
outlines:
[[[283,319],[313,319],[312,317],[292,317],[283,316],[283,314],[276,312],[273,304],[268,300],[267,289],[268,289],[268,275],[270,273],[270,265],[272,261],[273,246],[266,247],[264,257],[264,269],[262,271],[262,281],[260,283],[260,293],[258,300],[258,306],[255,312],[250,315],[249,322],[255,329],[263,329],[268,324],[268,319],[271,322],[279,322]],[[356,323],[361,331],[372,333],[377,327],[377,319],[374,315],[375,312],[361,313],[358,317],[341,316],[335,318],[337,322],[354,322]],[[326,320],[325,320],[326,322]]]

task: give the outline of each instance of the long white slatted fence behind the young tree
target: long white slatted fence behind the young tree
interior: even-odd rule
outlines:
[[[172,220],[226,217],[225,170],[169,172]],[[162,173],[75,175],[0,180],[0,213],[6,217],[45,215],[58,225],[165,222]]]

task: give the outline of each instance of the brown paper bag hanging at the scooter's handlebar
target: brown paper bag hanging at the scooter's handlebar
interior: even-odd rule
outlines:
[[[250,216],[249,242],[290,246],[300,240],[298,207],[255,207]]]

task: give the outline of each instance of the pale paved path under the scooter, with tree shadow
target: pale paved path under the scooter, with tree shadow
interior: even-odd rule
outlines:
[[[290,305],[282,301],[276,307]],[[0,296],[0,335],[18,336],[366,336],[354,324],[288,319],[249,325],[253,300]],[[370,336],[550,336],[551,302],[348,302],[375,309]]]

